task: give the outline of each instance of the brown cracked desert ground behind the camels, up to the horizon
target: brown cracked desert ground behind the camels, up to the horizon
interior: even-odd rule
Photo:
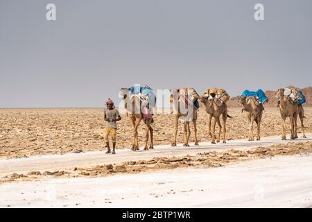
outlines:
[[[312,131],[312,108],[304,108],[306,132]],[[248,135],[246,113],[241,108],[229,108],[227,139],[243,139]],[[170,114],[155,114],[154,144],[171,144],[173,117]],[[207,142],[207,114],[200,109],[198,115],[198,139]],[[132,143],[132,125],[122,115],[118,122],[117,148],[129,148]],[[12,159],[32,155],[81,153],[104,151],[102,108],[60,108],[60,109],[1,109],[0,110],[0,158]],[[289,128],[289,126],[287,126]],[[298,119],[298,127],[300,121]],[[218,128],[217,128],[218,130]],[[302,129],[299,128],[298,133]],[[256,133],[256,128],[254,128]],[[281,117],[276,108],[266,108],[261,123],[261,137],[280,135]],[[289,130],[288,130],[289,133]],[[193,125],[191,138],[193,142]],[[139,127],[139,145],[144,146],[144,123]],[[178,141],[182,143],[182,123],[179,125]]]

